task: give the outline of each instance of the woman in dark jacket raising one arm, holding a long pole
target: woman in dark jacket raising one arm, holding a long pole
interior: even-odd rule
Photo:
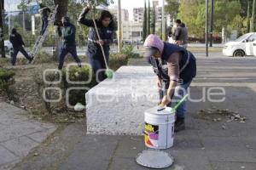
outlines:
[[[108,11],[103,10],[99,19],[96,20],[96,26],[100,34],[100,39],[97,37],[96,28],[94,26],[93,20],[88,20],[85,18],[86,14],[90,11],[90,6],[83,9],[79,16],[79,23],[84,26],[90,27],[90,32],[88,36],[88,46],[87,46],[87,56],[89,57],[90,65],[93,71],[96,73],[97,81],[101,82],[106,78],[104,74],[104,69],[106,65],[104,62],[102,49],[100,44],[102,44],[104,53],[106,55],[106,60],[108,63],[109,58],[109,45],[113,43],[113,36],[115,33],[115,24],[113,22],[113,15]]]

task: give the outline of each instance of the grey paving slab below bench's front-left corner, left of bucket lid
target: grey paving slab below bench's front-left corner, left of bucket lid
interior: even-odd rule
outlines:
[[[61,164],[61,170],[86,169],[106,170],[112,159],[120,137],[105,135],[86,135],[77,145],[73,154]]]

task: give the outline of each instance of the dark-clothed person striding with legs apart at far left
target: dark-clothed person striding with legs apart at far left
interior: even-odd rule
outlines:
[[[22,37],[16,31],[15,28],[12,30],[9,36],[9,41],[13,44],[13,48],[14,48],[14,53],[12,54],[12,59],[11,59],[12,65],[16,64],[17,54],[19,52],[26,57],[29,63],[32,62],[33,57],[29,56],[29,54],[26,53],[26,50],[23,48],[25,43],[23,42]]]

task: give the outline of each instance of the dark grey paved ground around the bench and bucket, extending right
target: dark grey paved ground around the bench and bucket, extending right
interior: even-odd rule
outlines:
[[[175,133],[173,147],[165,150],[175,159],[172,167],[166,169],[255,170],[256,58],[227,58],[212,54],[209,58],[203,54],[196,54],[196,57],[198,75],[192,84],[190,96],[201,101],[189,103],[186,130]],[[132,65],[135,64],[145,65],[145,62],[136,60]],[[212,87],[224,88],[224,102],[209,101],[205,92]],[[241,116],[247,116],[247,120],[226,122],[222,119],[213,122],[196,118],[197,111],[212,106],[239,111]],[[14,170],[148,169],[138,166],[135,161],[137,154],[145,149],[143,136],[85,135],[84,125],[83,122],[68,126],[49,147],[42,148],[39,156],[32,157],[31,153]],[[54,149],[55,145],[61,144],[66,146],[65,150],[60,150],[60,147]],[[65,152],[65,156],[57,159],[60,152]]]

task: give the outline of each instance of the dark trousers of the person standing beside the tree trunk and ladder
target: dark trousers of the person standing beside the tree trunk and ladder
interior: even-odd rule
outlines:
[[[79,56],[77,54],[77,48],[76,46],[72,46],[72,47],[62,47],[61,48],[61,54],[59,57],[59,70],[62,69],[63,65],[64,65],[64,60],[66,55],[70,53],[73,56],[73,59],[75,59],[75,61],[78,63],[79,66],[81,66],[81,60],[79,59]]]

